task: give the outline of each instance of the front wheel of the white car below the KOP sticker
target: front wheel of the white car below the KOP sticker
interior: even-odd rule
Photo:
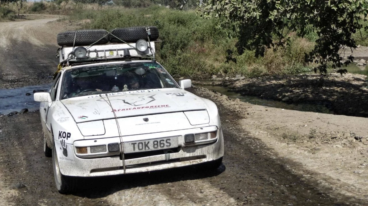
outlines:
[[[77,179],[73,177],[65,176],[61,174],[60,172],[55,144],[52,150],[52,165],[54,169],[54,177],[55,177],[55,184],[56,184],[57,190],[61,194],[70,194],[71,192],[76,191]]]

